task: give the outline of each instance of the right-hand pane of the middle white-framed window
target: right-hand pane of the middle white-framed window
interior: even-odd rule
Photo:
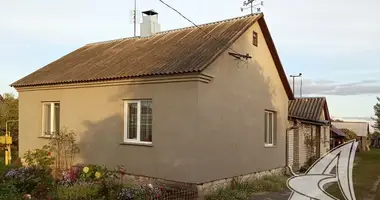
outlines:
[[[141,101],[140,141],[152,141],[152,101]]]

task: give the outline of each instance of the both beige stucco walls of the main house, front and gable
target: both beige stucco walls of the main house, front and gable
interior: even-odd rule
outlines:
[[[192,183],[283,167],[288,97],[258,24],[232,48],[253,59],[239,63],[225,52],[205,70],[214,76],[210,83],[22,91],[20,153],[46,142],[38,138],[41,102],[59,101],[61,125],[78,134],[81,163],[122,164],[132,174]],[[153,147],[121,145],[123,99],[145,98],[153,100]],[[272,148],[264,147],[265,109],[277,112]]]

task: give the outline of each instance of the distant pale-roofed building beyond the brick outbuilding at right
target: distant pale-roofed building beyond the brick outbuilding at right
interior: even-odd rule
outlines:
[[[370,145],[368,140],[369,136],[369,123],[368,122],[332,122],[338,129],[348,129],[353,131],[358,136],[358,149],[366,150],[367,145]]]

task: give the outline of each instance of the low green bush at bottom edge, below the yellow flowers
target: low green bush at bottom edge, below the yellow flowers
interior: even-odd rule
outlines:
[[[76,183],[72,186],[60,185],[56,191],[59,200],[98,199],[99,186],[91,183]]]

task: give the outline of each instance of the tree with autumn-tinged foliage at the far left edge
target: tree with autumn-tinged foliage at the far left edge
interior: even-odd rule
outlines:
[[[0,135],[5,135],[6,122],[9,120],[18,120],[18,99],[12,93],[5,93],[0,102]],[[8,131],[13,138],[12,149],[18,148],[18,123],[8,123]],[[17,156],[17,154],[13,154]],[[0,155],[1,157],[1,155]]]

